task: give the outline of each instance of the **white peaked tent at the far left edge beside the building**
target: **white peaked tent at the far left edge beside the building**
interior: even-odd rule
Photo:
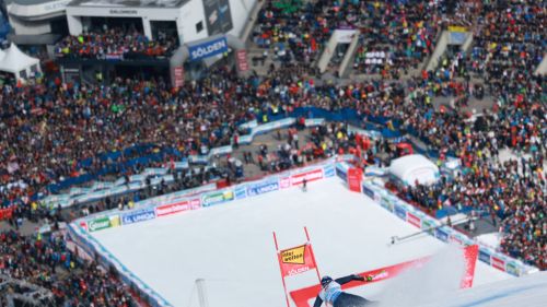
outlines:
[[[39,60],[28,57],[15,44],[0,56],[0,71],[13,73],[18,80],[28,79],[34,72],[40,71]]]

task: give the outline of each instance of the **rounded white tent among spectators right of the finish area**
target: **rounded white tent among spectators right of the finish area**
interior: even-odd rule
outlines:
[[[434,184],[440,178],[439,167],[420,154],[401,156],[389,165],[392,179],[398,185],[411,186]]]

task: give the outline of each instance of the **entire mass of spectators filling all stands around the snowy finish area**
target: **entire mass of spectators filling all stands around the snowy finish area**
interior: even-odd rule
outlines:
[[[266,76],[238,78],[218,69],[179,88],[170,87],[162,79],[116,79],[95,86],[59,80],[0,85],[2,206],[14,206],[15,216],[42,212],[40,216],[60,220],[42,211],[32,199],[36,193],[49,193],[48,185],[103,169],[108,170],[102,176],[130,176],[190,154],[207,154],[216,146],[237,145],[238,137],[248,133],[240,123],[268,122],[270,117],[300,107],[333,113],[351,109],[362,119],[352,122],[354,126],[388,118],[383,126],[420,139],[428,150],[439,153],[439,161],[446,155],[459,158],[461,175],[443,177],[431,187],[403,190],[404,198],[432,210],[472,206],[476,212],[498,215],[501,221],[492,221],[503,233],[501,250],[545,270],[546,80],[532,74],[543,56],[545,8],[535,3],[488,1],[479,11],[484,13],[478,14],[470,54],[457,54],[437,70],[422,71],[406,81],[388,79],[431,54],[444,10],[438,2],[345,1],[339,5],[319,0],[289,14],[268,1],[254,40],[292,64],[272,66]],[[468,25],[475,17],[463,20]],[[342,85],[310,75],[309,67],[331,31],[342,27],[358,28],[365,37],[357,69],[389,78]],[[89,58],[163,56],[176,47],[170,39],[148,42],[136,32],[110,29],[68,37],[58,48],[65,56]],[[473,118],[459,113],[457,103],[452,108],[435,108],[433,104],[441,96],[465,104],[474,95],[482,96],[477,94],[482,86],[494,105]],[[274,150],[264,145],[256,155],[245,153],[245,163],[256,163],[264,172],[280,172],[340,153],[354,153],[364,164],[379,163],[384,154],[393,156],[387,142],[365,142],[351,133],[347,123],[318,126],[311,129],[310,139],[299,138],[301,120],[286,137],[279,134],[280,140],[287,138],[286,144]],[[141,144],[151,145],[138,152],[124,151]],[[504,150],[519,158],[502,161],[500,152]],[[116,152],[123,154],[104,155]],[[123,166],[156,153],[162,153],[160,160]],[[124,209],[140,199],[196,187],[223,177],[219,169],[212,165],[200,172],[175,172],[171,185],[148,185],[130,196],[85,205],[83,212]],[[57,306],[133,306],[128,290],[114,274],[94,263],[77,261],[59,238],[8,232],[0,234],[0,273],[50,290]]]

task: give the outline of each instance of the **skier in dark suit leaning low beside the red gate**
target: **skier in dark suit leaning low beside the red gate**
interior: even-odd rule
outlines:
[[[333,280],[329,276],[324,276],[321,279],[321,292],[315,298],[313,307],[321,307],[321,304],[325,302],[327,307],[364,307],[371,306],[372,302],[361,296],[349,294],[341,291],[341,285],[347,284],[351,281],[372,281],[372,276],[366,278],[359,275],[349,275],[346,278],[339,278]]]

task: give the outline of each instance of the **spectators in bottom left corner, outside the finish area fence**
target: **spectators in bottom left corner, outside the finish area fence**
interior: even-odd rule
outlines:
[[[61,237],[2,232],[0,250],[0,273],[51,291],[55,302],[46,306],[138,306],[127,286],[101,267],[78,259]]]

